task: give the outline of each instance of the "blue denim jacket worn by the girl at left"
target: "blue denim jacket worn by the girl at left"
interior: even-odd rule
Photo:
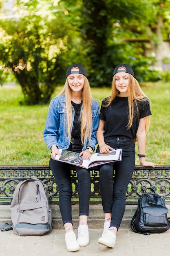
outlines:
[[[86,149],[86,146],[91,146],[95,150],[97,144],[96,132],[99,124],[99,103],[94,99],[91,99],[91,110],[92,110],[92,122],[93,132],[91,135],[91,141],[85,141],[82,151]],[[66,99],[65,95],[57,96],[52,99],[49,112],[46,119],[46,125],[44,129],[44,141],[48,148],[56,145],[58,148],[67,149],[70,145],[68,138],[66,119]],[[72,106],[72,126],[74,121],[75,111]]]

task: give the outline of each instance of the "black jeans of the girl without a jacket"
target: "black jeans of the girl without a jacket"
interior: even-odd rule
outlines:
[[[135,142],[133,139],[109,137],[105,143],[115,149],[122,148],[121,161],[99,166],[103,210],[112,214],[110,227],[119,229],[126,206],[127,186],[135,168]]]

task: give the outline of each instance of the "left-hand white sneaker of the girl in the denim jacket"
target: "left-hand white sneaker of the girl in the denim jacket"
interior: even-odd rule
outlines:
[[[74,231],[69,231],[65,234],[65,241],[68,252],[75,252],[79,250],[79,244],[77,242]]]

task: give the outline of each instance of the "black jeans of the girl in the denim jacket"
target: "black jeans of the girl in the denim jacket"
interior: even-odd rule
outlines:
[[[81,149],[77,148],[77,141],[74,140],[71,147],[68,150],[75,152],[81,152]],[[76,149],[76,150],[75,150]],[[51,171],[55,177],[56,183],[59,190],[59,206],[60,212],[62,215],[63,225],[66,222],[72,221],[71,213],[71,197],[72,197],[72,185],[71,185],[71,176],[70,176],[70,164],[59,162],[56,160],[50,159],[49,162]],[[78,178],[78,193],[79,193],[79,216],[86,215],[89,213],[89,201],[91,195],[91,176],[88,169],[74,166],[75,171],[77,172]]]

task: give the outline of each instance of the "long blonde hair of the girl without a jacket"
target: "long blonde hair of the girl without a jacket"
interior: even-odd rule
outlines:
[[[124,66],[119,67],[118,70],[122,68],[125,68],[125,67]],[[129,85],[128,85],[129,86],[128,87],[129,114],[128,114],[128,124],[126,127],[127,129],[130,129],[130,127],[132,126],[133,118],[135,117],[135,115],[139,115],[137,101],[148,101],[149,104],[151,103],[150,103],[150,99],[141,90],[140,85],[138,81],[135,79],[135,77],[129,73],[127,74],[129,79]],[[115,85],[115,76],[113,76],[111,96],[105,99],[107,105],[102,105],[102,106],[108,107],[112,103],[112,101],[115,99],[115,97],[119,95],[119,93],[120,92],[116,89],[116,85]],[[150,125],[150,116],[148,116],[147,124],[145,127],[146,133],[148,132],[149,125]],[[137,141],[137,139],[135,139],[135,141]]]

